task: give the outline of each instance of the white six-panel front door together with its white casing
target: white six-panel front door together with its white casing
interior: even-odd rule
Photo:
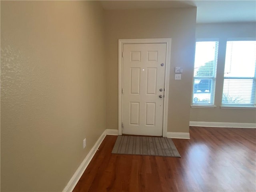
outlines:
[[[119,135],[166,137],[170,43],[119,40]]]

